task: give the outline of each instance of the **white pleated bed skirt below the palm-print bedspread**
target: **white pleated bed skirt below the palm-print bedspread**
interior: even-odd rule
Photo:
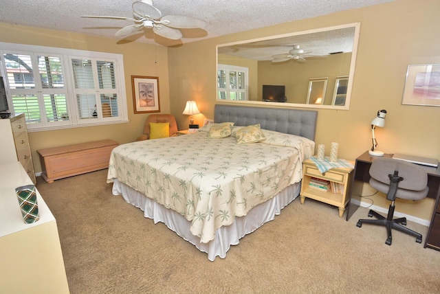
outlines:
[[[217,256],[225,258],[231,245],[239,244],[240,239],[246,234],[252,233],[280,214],[281,210],[298,196],[300,183],[290,185],[272,199],[252,208],[247,216],[236,217],[232,225],[220,227],[217,229],[214,240],[208,243],[200,242],[199,237],[191,234],[191,223],[184,216],[165,208],[144,194],[120,183],[117,179],[113,183],[112,192],[113,195],[122,195],[127,203],[140,208],[144,212],[144,217],[153,219],[154,223],[164,223],[181,238],[195,245],[197,249],[208,253],[208,259],[214,261]]]

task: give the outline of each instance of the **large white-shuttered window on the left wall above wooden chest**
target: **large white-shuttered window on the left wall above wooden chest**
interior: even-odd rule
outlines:
[[[9,43],[0,52],[10,111],[25,113],[29,130],[128,121],[122,55]]]

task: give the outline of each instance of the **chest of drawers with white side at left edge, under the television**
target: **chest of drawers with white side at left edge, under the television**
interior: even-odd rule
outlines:
[[[32,182],[36,183],[25,115],[20,113],[0,120],[0,138],[0,163],[18,159]]]

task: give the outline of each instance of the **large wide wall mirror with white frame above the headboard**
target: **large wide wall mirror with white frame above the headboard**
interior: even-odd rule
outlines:
[[[359,32],[350,23],[217,45],[217,101],[348,110]],[[268,87],[281,93],[266,97]]]

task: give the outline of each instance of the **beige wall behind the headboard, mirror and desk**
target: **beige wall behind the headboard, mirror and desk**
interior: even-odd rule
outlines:
[[[412,64],[440,63],[440,1],[397,0],[259,30],[231,34],[168,49],[171,112],[178,123],[185,100],[196,100],[212,118],[216,101],[216,45],[360,22],[360,42],[349,111],[320,110],[316,143],[339,143],[341,158],[354,160],[371,148],[371,120],[386,109],[386,127],[377,128],[378,149],[440,159],[440,107],[401,105],[406,69]],[[225,102],[221,102],[225,103]],[[428,219],[432,201],[408,205],[406,213]],[[386,207],[388,204],[375,204]],[[428,208],[426,208],[428,207]]]

